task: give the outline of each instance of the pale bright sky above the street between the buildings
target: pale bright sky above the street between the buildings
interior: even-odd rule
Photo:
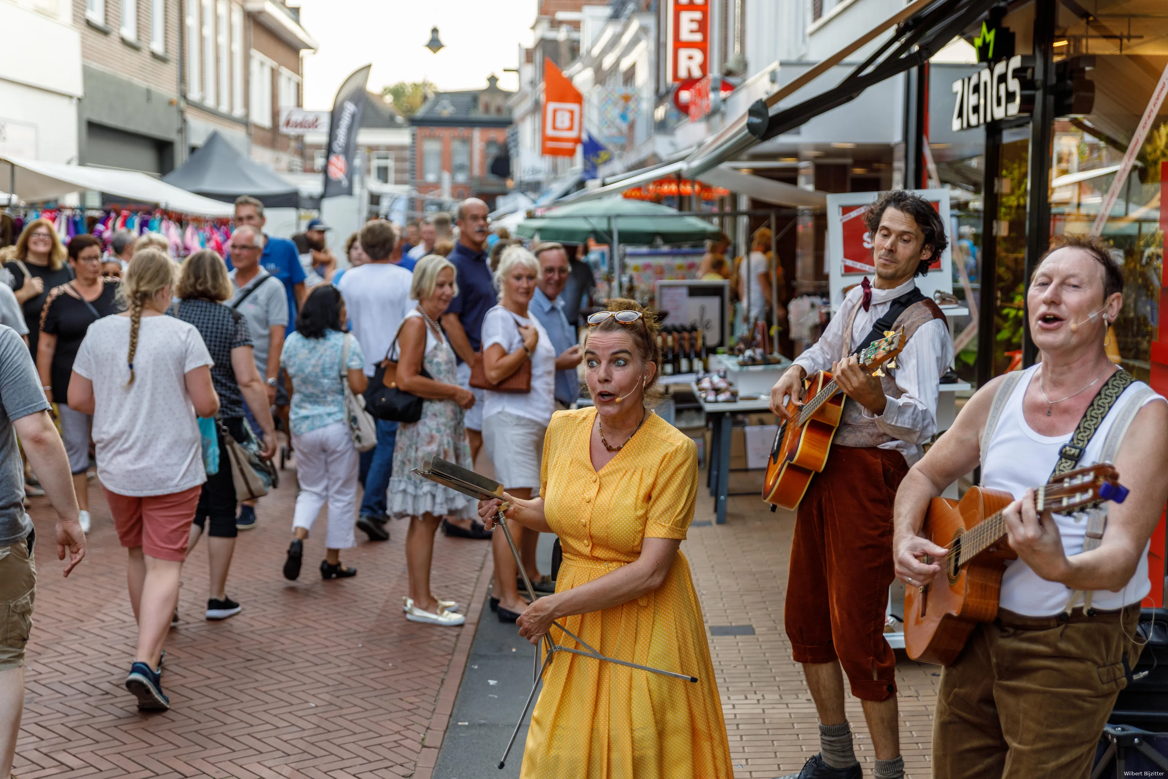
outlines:
[[[291,0],[288,5],[296,5]],[[345,78],[373,63],[369,90],[426,81],[439,90],[480,89],[499,76],[514,90],[519,46],[530,46],[536,0],[299,0],[300,22],[317,44],[304,53],[304,106],[327,111]],[[446,47],[425,48],[437,27]]]

